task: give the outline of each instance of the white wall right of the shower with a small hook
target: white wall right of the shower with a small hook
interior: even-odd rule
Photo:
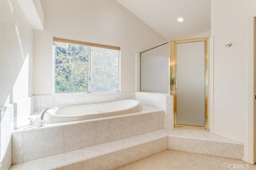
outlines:
[[[248,31],[254,0],[213,0],[213,133],[244,144],[248,161]],[[232,43],[230,48],[224,47]]]

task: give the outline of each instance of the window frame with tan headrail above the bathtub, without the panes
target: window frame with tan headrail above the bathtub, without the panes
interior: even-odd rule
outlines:
[[[88,90],[87,92],[71,92],[71,93],[56,93],[55,92],[55,71],[56,71],[56,62],[55,62],[55,42],[60,42],[60,43],[68,43],[68,44],[75,44],[75,45],[84,45],[88,47]],[[91,47],[99,47],[99,48],[104,48],[104,49],[112,49],[118,51],[118,90],[117,91],[107,91],[107,92],[92,92],[92,78],[91,78],[91,73],[92,73],[92,60],[91,60]],[[61,95],[61,94],[88,94],[88,93],[111,93],[111,92],[120,92],[120,53],[121,53],[121,48],[117,46],[111,46],[111,45],[103,45],[103,44],[98,44],[98,43],[90,43],[90,42],[85,42],[85,41],[77,41],[77,40],[72,40],[72,39],[64,39],[64,38],[59,38],[59,37],[53,37],[52,41],[52,56],[53,56],[53,94],[56,95]]]

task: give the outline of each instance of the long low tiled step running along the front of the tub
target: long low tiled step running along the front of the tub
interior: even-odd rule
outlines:
[[[10,170],[114,169],[168,149],[167,136],[166,129],[160,129],[94,145],[92,147],[16,164],[13,165]]]

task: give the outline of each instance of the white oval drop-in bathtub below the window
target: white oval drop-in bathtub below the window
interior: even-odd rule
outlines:
[[[66,122],[122,115],[141,111],[142,105],[138,100],[119,100],[100,104],[56,107],[56,109],[57,111],[48,110],[44,114],[44,120],[48,122]]]

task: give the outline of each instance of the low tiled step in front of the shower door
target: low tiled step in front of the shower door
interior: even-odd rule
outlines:
[[[209,131],[168,130],[168,149],[242,159],[243,145]]]

